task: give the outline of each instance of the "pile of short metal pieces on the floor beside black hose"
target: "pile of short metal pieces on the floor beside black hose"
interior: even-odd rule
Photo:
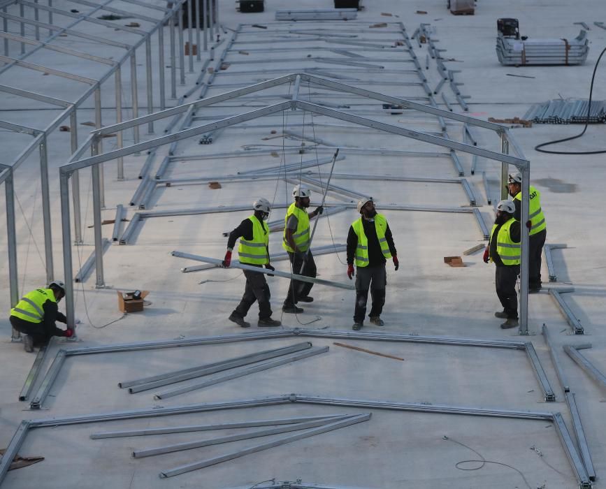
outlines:
[[[524,119],[537,124],[584,124],[587,121],[588,100],[551,100],[528,109]],[[589,123],[606,122],[606,101],[591,101]]]

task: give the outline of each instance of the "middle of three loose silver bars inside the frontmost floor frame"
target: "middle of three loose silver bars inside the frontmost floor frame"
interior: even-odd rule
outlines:
[[[305,421],[304,423],[282,425],[277,428],[267,428],[265,430],[238,433],[238,435],[227,435],[224,437],[217,437],[212,439],[188,441],[185,443],[178,443],[174,445],[159,446],[157,448],[147,448],[145,450],[135,450],[133,451],[133,458],[151,457],[153,455],[162,455],[164,453],[192,450],[192,448],[202,448],[203,446],[220,445],[224,443],[230,443],[231,441],[268,437],[271,435],[279,435],[280,433],[288,433],[291,431],[307,430],[308,428],[317,428],[318,426],[324,426],[331,422],[335,423],[336,421],[340,421],[342,419],[350,417],[352,416],[335,416],[329,419],[317,419],[315,421]]]

